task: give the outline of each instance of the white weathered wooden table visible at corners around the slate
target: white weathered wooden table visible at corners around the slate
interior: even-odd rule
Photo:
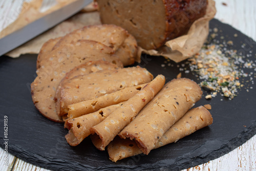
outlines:
[[[0,0],[0,6],[5,4],[4,1]],[[8,0],[9,1],[9,0]],[[29,0],[26,0],[29,1]],[[217,19],[221,20],[223,23],[227,23],[234,28],[240,30],[244,34],[248,35],[252,39],[256,40],[256,0],[215,0],[217,7]],[[19,9],[18,6],[21,5],[22,0],[14,0],[12,2],[17,2],[15,5],[11,5],[9,8]],[[9,10],[11,11],[11,10]],[[16,10],[17,11],[17,10]],[[14,14],[6,14],[7,11],[0,10],[0,25],[6,25],[6,16],[12,16],[15,18]],[[16,15],[16,14],[15,14]],[[2,28],[0,27],[0,30]],[[250,140],[245,142],[243,145],[234,149],[230,153],[217,158],[215,160],[209,161],[207,163],[201,164],[196,167],[191,167],[184,169],[183,171],[208,171],[208,170],[256,170],[256,135]],[[41,170],[46,171],[47,169],[40,168],[38,166],[32,165],[19,159],[11,154],[9,154],[8,167],[4,166],[4,151],[0,148],[0,171],[2,170]]]

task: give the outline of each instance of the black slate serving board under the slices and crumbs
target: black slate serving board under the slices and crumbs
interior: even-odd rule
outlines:
[[[234,42],[231,48],[240,50],[244,55],[251,51],[250,59],[255,60],[256,42],[213,19],[210,28],[215,27],[220,31],[219,36],[224,35],[225,39]],[[236,38],[233,36],[235,33],[238,34]],[[217,39],[222,41],[220,37]],[[241,48],[242,44],[245,44],[246,49]],[[154,76],[165,75],[169,81],[180,71],[174,62],[174,67],[161,67],[165,60],[163,57],[143,55],[140,65]],[[36,77],[35,71],[36,55],[22,55],[16,59],[0,57],[0,146],[4,147],[4,116],[8,116],[8,152],[48,169],[179,170],[216,159],[240,146],[256,133],[256,88],[251,85],[253,89],[250,89],[249,93],[242,89],[238,97],[231,101],[218,95],[211,100],[202,98],[196,104],[211,104],[210,112],[214,118],[212,125],[177,143],[153,150],[148,156],[137,155],[113,163],[109,160],[107,152],[98,151],[89,138],[76,147],[69,146],[64,137],[68,131],[63,129],[63,125],[39,114],[30,94],[30,83]],[[244,71],[251,72],[246,69]],[[199,83],[192,72],[183,72],[182,76]]]

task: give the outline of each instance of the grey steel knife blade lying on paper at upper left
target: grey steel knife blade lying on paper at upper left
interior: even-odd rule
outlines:
[[[93,0],[77,0],[0,39],[0,56],[80,11]]]

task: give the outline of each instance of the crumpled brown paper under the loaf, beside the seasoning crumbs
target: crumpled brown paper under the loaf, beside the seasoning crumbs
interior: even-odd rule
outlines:
[[[215,1],[208,0],[204,17],[197,19],[186,35],[166,41],[165,46],[157,50],[145,50],[139,47],[138,56],[145,53],[152,56],[164,56],[175,62],[185,60],[200,51],[209,33],[209,21],[216,13]]]

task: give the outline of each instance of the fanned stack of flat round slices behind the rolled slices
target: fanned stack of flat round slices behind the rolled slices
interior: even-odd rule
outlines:
[[[98,64],[88,63],[92,61]],[[50,39],[42,46],[37,58],[37,77],[31,83],[33,102],[42,115],[63,122],[62,116],[57,114],[59,109],[56,110],[55,103],[58,98],[55,96],[67,73],[79,65],[83,65],[80,66],[81,72],[85,71],[75,72],[77,75],[123,68],[135,61],[139,61],[135,38],[115,25],[87,26]]]

